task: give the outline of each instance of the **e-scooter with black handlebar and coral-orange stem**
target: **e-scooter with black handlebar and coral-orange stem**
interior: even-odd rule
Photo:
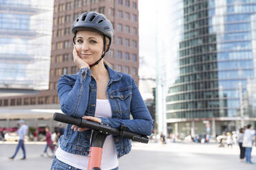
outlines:
[[[116,129],[109,127],[108,125],[103,125],[103,123],[96,123],[94,121],[87,121],[86,119],[82,118],[70,117],[58,112],[54,113],[54,121],[69,123],[78,127],[86,127],[94,130],[92,133],[92,142],[89,149],[89,162],[87,167],[88,170],[100,170],[101,157],[103,154],[103,144],[105,142],[105,138],[110,134],[113,134],[114,136],[121,136],[123,138],[129,138],[131,141],[137,141],[140,143],[149,142],[149,138],[147,136],[128,132],[125,125],[121,125],[120,129]]]

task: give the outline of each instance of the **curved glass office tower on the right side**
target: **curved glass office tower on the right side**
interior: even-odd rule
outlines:
[[[256,0],[172,0],[169,9],[158,33],[167,131],[215,136],[254,125]]]

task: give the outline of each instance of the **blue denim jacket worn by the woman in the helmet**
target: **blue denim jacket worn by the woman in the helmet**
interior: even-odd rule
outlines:
[[[102,123],[115,128],[123,124],[131,132],[150,135],[153,130],[153,121],[134,79],[130,75],[110,69],[109,66],[106,68],[109,72],[106,93],[112,117],[101,117]],[[84,78],[83,75],[85,75]],[[73,117],[94,116],[96,88],[96,80],[88,68],[80,69],[74,75],[63,75],[58,80],[57,86],[61,110]],[[130,113],[132,120],[130,120]],[[92,130],[74,132],[71,126],[67,125],[64,135],[59,139],[61,149],[72,154],[88,156]],[[114,136],[114,143],[118,158],[131,150],[131,141],[127,138]]]

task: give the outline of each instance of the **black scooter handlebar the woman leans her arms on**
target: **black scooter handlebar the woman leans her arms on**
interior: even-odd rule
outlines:
[[[87,127],[92,130],[96,130],[103,134],[113,134],[115,136],[122,136],[125,138],[130,138],[132,141],[137,141],[140,143],[148,143],[149,138],[147,136],[143,136],[141,134],[136,134],[134,132],[128,132],[126,130],[118,130],[113,127],[109,127],[107,125],[103,125],[101,123],[96,123],[94,121],[87,121],[82,118],[75,118],[71,116],[67,116],[62,113],[55,112],[54,113],[54,121],[60,121],[63,123],[69,123],[72,125],[77,125],[78,127]]]

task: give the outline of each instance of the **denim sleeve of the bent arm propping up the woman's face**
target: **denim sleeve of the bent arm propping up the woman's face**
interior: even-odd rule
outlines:
[[[70,82],[67,75],[58,80],[57,92],[61,110],[72,117],[83,117],[88,105],[91,71],[88,68],[80,69],[73,87]]]

